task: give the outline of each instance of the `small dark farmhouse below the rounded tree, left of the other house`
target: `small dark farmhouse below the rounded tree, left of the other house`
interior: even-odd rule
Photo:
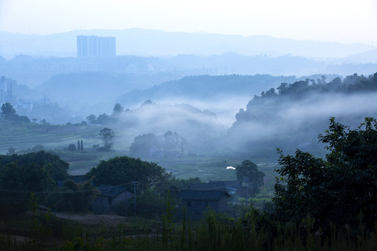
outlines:
[[[100,185],[97,190],[100,192],[91,204],[91,209],[95,214],[111,213],[112,206],[124,204],[133,197],[133,192],[129,192],[124,187],[114,185]]]

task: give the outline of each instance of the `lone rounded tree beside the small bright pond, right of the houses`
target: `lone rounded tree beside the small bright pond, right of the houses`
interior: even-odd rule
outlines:
[[[263,185],[265,173],[258,171],[257,165],[250,160],[244,160],[241,166],[236,167],[236,172],[237,180],[246,182],[249,195],[254,197]]]

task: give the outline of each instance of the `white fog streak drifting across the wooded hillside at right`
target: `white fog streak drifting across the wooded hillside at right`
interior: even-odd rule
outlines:
[[[305,133],[308,128],[309,132],[314,135],[307,135],[307,137],[316,138],[328,128],[330,117],[335,117],[337,122],[355,128],[364,121],[363,118],[366,116],[376,118],[376,100],[377,93],[363,93],[318,95],[298,102],[281,102],[278,107],[275,104],[271,108],[277,108],[276,113],[272,113],[274,117],[264,121],[250,119],[244,123],[238,123],[232,134],[232,141],[281,139],[292,133],[294,135]],[[258,107],[252,107],[252,109],[258,109]],[[321,122],[323,128],[316,128],[321,125]]]

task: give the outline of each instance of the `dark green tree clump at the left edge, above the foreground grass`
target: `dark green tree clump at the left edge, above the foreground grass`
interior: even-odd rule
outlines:
[[[55,188],[54,179],[68,176],[68,163],[59,156],[40,151],[24,155],[0,156],[1,217],[27,209],[31,192],[43,199],[47,190]]]

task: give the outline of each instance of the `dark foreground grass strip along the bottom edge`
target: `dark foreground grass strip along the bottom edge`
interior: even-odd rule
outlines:
[[[305,218],[302,227],[288,223],[269,228],[260,226],[258,218],[244,216],[239,220],[207,213],[201,221],[185,218],[175,220],[168,227],[159,220],[128,218],[118,225],[80,225],[69,220],[49,218],[43,214],[38,221],[30,215],[19,215],[1,222],[14,229],[0,235],[0,250],[297,250],[297,251],[357,251],[376,250],[377,225],[375,231],[359,231],[350,236],[345,229],[333,229],[331,236],[321,236],[312,229],[312,218]],[[28,221],[25,224],[25,220]],[[36,225],[44,233],[36,238]],[[258,227],[259,225],[259,227]],[[23,232],[17,232],[22,228]],[[28,238],[17,238],[15,235]],[[168,235],[167,235],[168,234]]]

